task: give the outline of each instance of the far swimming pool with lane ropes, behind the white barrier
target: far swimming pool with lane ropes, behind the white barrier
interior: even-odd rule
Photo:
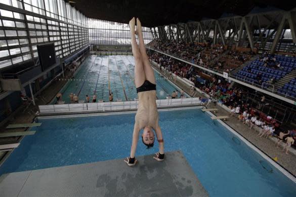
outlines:
[[[86,99],[86,95],[92,98],[97,94],[97,101],[109,102],[109,92],[113,92],[114,101],[134,101],[138,97],[134,84],[134,67],[133,56],[91,55],[84,60],[74,78],[62,88],[62,100],[70,103],[69,95],[74,93],[82,101]],[[158,99],[165,99],[176,89],[180,96],[180,88],[161,78],[158,72],[154,71],[154,74]],[[52,102],[54,103],[56,100]]]

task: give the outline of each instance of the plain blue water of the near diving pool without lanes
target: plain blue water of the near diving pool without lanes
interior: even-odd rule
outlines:
[[[181,150],[210,196],[296,196],[294,182],[200,110],[159,114],[165,151]],[[40,119],[0,174],[127,157],[134,117]],[[147,150],[139,139],[136,156],[157,151],[157,141]]]

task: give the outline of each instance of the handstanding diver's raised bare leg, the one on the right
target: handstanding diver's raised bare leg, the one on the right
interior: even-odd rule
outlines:
[[[146,53],[145,43],[143,39],[143,33],[142,33],[142,25],[140,20],[137,18],[137,31],[136,34],[138,35],[139,39],[139,48],[140,48],[140,54],[142,55],[143,65],[144,65],[144,73],[146,76],[146,79],[150,81],[151,83],[155,84],[155,77],[154,77],[154,71],[151,68],[149,58]]]

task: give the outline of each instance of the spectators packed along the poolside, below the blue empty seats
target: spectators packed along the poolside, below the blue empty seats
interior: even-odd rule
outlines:
[[[250,129],[259,131],[259,137],[277,136],[277,146],[284,140],[283,151],[288,154],[289,147],[296,140],[296,130],[279,131],[280,126],[277,121],[269,115],[260,111],[260,106],[265,101],[265,96],[261,97],[261,104],[257,108],[251,107],[248,102],[244,102],[242,95],[246,94],[243,89],[229,88],[230,83],[221,80],[214,80],[205,83],[202,90],[210,95],[214,101],[220,101],[231,109],[230,116],[235,116]]]

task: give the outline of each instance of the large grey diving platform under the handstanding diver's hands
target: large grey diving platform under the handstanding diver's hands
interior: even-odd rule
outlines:
[[[180,151],[3,174],[0,196],[208,196]]]

